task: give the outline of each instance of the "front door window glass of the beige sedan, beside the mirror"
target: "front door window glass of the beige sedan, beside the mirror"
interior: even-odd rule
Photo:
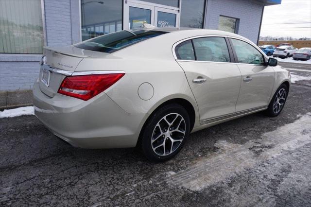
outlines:
[[[231,39],[233,49],[235,50],[238,62],[247,64],[264,64],[262,54],[255,49],[252,45],[238,39]]]

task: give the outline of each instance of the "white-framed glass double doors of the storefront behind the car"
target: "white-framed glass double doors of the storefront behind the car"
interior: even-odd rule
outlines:
[[[123,29],[143,28],[144,23],[155,27],[179,27],[178,8],[128,0],[124,5]]]

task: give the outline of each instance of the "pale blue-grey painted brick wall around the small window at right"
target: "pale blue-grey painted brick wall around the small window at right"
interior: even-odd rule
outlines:
[[[219,16],[240,19],[239,35],[257,43],[263,5],[253,0],[207,0],[206,29],[218,29]]]

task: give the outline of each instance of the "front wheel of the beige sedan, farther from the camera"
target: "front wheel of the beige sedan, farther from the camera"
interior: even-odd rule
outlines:
[[[282,84],[276,90],[276,93],[274,94],[268,106],[267,113],[269,116],[276,117],[281,113],[285,105],[287,95],[288,95],[288,88],[285,84]]]

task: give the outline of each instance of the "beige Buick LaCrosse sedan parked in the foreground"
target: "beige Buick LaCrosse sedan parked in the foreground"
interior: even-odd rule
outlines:
[[[290,73],[250,40],[204,29],[126,30],[44,48],[35,115],[81,148],[140,147],[152,161],[187,136],[266,110],[277,116]]]

